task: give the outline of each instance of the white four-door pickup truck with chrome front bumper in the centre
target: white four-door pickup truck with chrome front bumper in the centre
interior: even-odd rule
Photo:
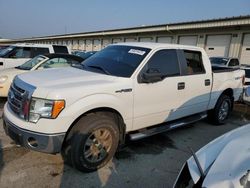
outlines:
[[[243,92],[244,71],[216,68],[202,48],[123,43],[79,66],[17,75],[4,107],[20,145],[62,153],[81,171],[104,166],[125,138],[208,118],[222,124]]]

